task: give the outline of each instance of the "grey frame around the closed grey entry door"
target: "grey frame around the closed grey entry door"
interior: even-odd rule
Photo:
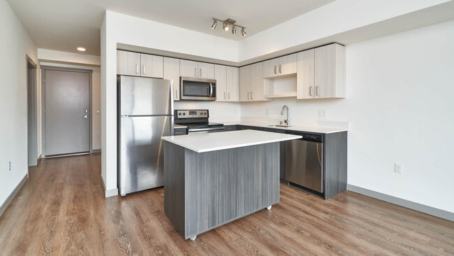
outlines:
[[[92,74],[93,70],[91,69],[73,69],[73,68],[66,68],[66,67],[61,67],[61,66],[41,66],[41,134],[42,134],[42,139],[41,139],[41,157],[45,158],[45,71],[46,70],[53,70],[53,71],[68,71],[68,72],[78,72],[78,73],[88,73],[89,75],[89,153],[91,154],[93,152],[93,127],[92,127],[92,115],[93,115],[93,110],[91,109],[91,83],[93,82],[92,80]],[[71,154],[69,154],[71,155]],[[79,155],[79,154],[73,154],[73,155]],[[68,155],[61,155],[61,157],[66,157]],[[56,156],[59,157],[59,156]]]

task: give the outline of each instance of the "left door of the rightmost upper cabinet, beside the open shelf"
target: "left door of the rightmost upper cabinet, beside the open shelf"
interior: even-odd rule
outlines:
[[[315,50],[298,52],[297,99],[314,99]]]

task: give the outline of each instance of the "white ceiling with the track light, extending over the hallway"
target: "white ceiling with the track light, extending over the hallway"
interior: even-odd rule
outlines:
[[[251,36],[334,0],[8,0],[38,48],[100,55],[100,27],[104,10],[112,10],[206,34],[241,40],[212,30],[212,17],[237,20]]]

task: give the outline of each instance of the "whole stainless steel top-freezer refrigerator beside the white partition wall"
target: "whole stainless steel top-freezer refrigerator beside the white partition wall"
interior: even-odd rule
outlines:
[[[124,196],[164,185],[161,136],[173,135],[173,81],[117,77],[118,187]]]

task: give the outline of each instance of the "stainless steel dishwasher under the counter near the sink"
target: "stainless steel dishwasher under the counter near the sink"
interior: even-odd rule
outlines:
[[[285,179],[323,193],[323,136],[287,131],[300,135],[286,141]]]

